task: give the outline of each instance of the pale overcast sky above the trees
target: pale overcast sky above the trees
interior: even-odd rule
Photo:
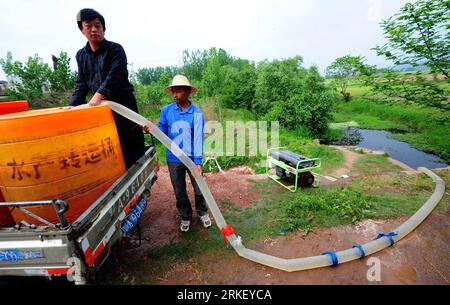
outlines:
[[[76,24],[82,8],[106,20],[105,37],[120,43],[130,69],[182,64],[182,51],[225,49],[255,62],[301,55],[320,71],[337,57],[362,55],[391,63],[371,48],[385,43],[380,22],[408,0],[0,0],[0,58],[75,54],[86,39]],[[0,69],[0,80],[5,79]]]

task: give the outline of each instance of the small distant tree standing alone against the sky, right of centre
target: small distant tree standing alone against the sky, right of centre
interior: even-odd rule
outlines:
[[[364,63],[364,57],[345,55],[336,58],[327,67],[326,75],[333,79],[344,100],[348,102],[350,100],[350,93],[347,91],[349,82],[356,77],[373,74],[374,71],[374,67]]]

